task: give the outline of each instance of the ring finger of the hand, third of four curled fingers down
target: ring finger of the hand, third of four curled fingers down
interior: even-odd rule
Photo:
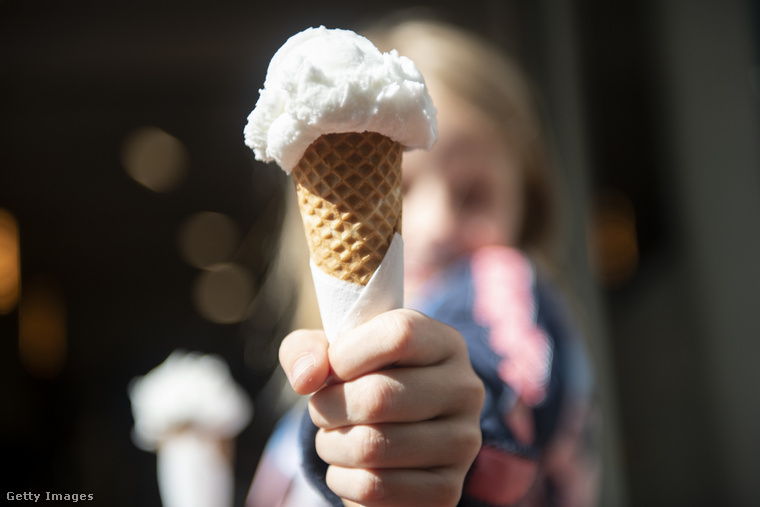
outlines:
[[[315,443],[325,462],[344,468],[440,468],[471,462],[481,438],[465,419],[438,419],[320,430]]]

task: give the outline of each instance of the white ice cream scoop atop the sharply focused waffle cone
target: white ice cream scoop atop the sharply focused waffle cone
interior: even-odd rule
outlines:
[[[321,26],[293,35],[272,57],[245,143],[258,160],[290,173],[322,134],[370,131],[407,149],[430,149],[435,114],[410,59]]]

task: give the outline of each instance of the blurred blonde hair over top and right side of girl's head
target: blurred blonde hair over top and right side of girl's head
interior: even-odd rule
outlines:
[[[537,101],[518,64],[477,34],[437,20],[391,20],[362,33],[380,50],[395,49],[411,58],[426,80],[445,87],[497,125],[518,153],[523,172],[525,218],[517,246],[544,261],[551,259],[556,189]]]

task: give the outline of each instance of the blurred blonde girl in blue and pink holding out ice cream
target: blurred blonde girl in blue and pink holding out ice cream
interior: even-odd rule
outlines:
[[[403,163],[405,297],[416,312],[389,312],[329,352],[319,332],[283,343],[291,385],[316,393],[301,446],[320,494],[301,505],[593,505],[591,374],[546,278],[557,198],[531,88],[497,49],[443,23],[406,20],[365,35],[415,62],[438,109],[437,143]],[[372,363],[375,351],[357,348],[366,343],[403,343],[408,355]],[[296,367],[304,357],[308,375]],[[330,371],[351,372],[338,401],[334,386],[320,390]],[[339,403],[364,413],[371,391],[352,398],[351,386],[382,385],[374,378],[395,382],[383,393],[394,410],[336,418]],[[473,425],[477,439],[468,437]],[[264,482],[254,483],[251,505],[289,505],[289,494],[302,494],[289,482],[281,503],[257,503]]]

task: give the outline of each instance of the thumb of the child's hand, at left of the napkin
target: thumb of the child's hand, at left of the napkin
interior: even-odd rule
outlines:
[[[280,364],[295,392],[316,392],[330,374],[325,334],[311,330],[289,334],[280,345]]]

